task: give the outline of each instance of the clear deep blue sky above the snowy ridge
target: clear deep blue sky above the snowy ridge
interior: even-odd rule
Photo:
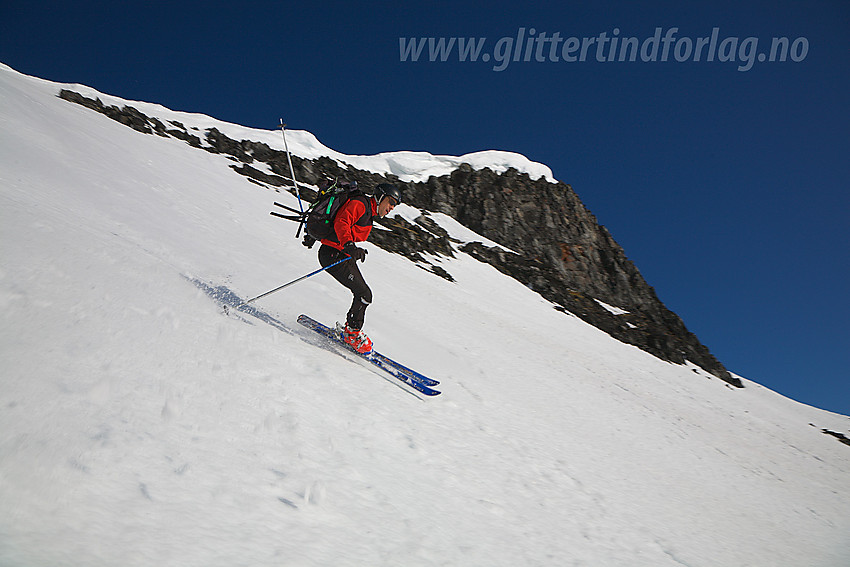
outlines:
[[[850,415],[850,3],[521,4],[12,1],[0,61],[246,126],[283,117],[350,154],[522,153],[730,370]],[[494,70],[521,28],[530,61]],[[607,61],[612,38],[656,28],[668,61],[660,41],[654,61]],[[708,44],[695,61],[714,28],[714,61]],[[399,38],[429,37],[486,38],[489,61],[457,44],[401,60]],[[571,37],[594,38],[584,61],[563,60]],[[774,37],[796,51],[758,61]]]

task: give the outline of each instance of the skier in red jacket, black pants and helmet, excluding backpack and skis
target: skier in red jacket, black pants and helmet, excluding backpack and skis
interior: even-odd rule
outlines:
[[[358,248],[356,242],[365,242],[372,231],[372,218],[385,217],[401,203],[401,191],[395,185],[381,183],[372,196],[351,197],[334,217],[334,234],[322,239],[319,248],[319,263],[327,267],[346,256],[352,261],[342,262],[328,268],[327,272],[339,283],[351,290],[354,299],[342,328],[343,340],[361,354],[372,352],[372,341],[362,331],[366,308],[372,303],[372,290],[363,279],[357,262],[366,261],[367,250]],[[337,324],[339,327],[339,324]]]

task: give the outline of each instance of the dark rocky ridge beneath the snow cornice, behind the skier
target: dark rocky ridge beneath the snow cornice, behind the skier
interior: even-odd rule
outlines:
[[[236,162],[232,169],[252,182],[292,190],[286,154],[267,144],[236,141],[215,128],[208,129],[201,139],[179,122],[169,122],[170,128],[132,107],[105,106],[99,99],[67,90],[59,96],[140,132],[173,136],[194,147],[227,155]],[[743,387],[664,306],[569,185],[531,179],[514,169],[496,173],[468,164],[449,175],[404,183],[395,176],[358,170],[327,157],[291,157],[299,185],[317,185],[325,177],[344,177],[367,189],[387,181],[403,187],[405,203],[419,208],[422,215],[416,224],[399,217],[380,220],[381,226],[371,237],[378,246],[449,281],[453,281],[451,274],[433,260],[453,257],[459,250],[522,282],[556,309],[572,313],[625,343],[673,363],[691,361],[729,384]],[[302,188],[301,196],[312,201],[315,192]],[[478,242],[461,245],[429,217],[429,211],[445,213],[508,250]],[[612,311],[610,306],[619,310]]]

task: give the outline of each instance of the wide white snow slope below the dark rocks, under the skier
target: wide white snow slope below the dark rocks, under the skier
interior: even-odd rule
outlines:
[[[850,561],[847,417],[367,244],[370,336],[442,381],[417,399],[295,324],[344,314],[330,277],[258,302],[283,331],[187,279],[314,270],[268,216],[294,199],[60,88],[0,69],[0,565]]]

